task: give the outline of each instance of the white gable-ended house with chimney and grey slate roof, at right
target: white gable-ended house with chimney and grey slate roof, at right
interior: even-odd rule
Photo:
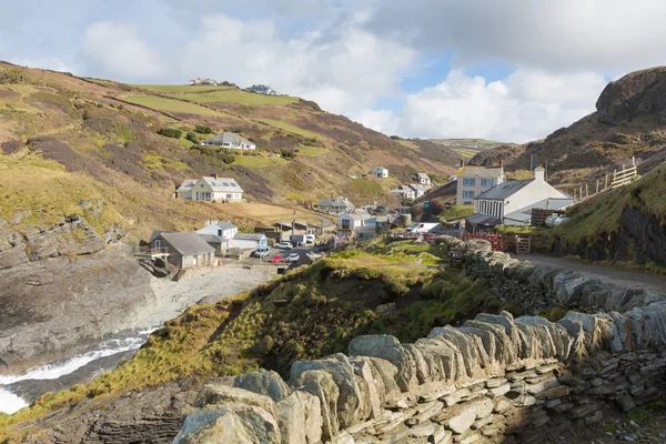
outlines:
[[[534,179],[502,182],[474,198],[474,214],[467,218],[472,225],[529,224],[532,209],[564,210],[574,200],[548,182],[545,170],[534,170]]]

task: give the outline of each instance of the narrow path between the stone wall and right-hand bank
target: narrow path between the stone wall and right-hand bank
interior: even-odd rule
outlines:
[[[512,254],[522,261],[529,261],[534,265],[554,266],[567,271],[575,271],[589,279],[615,283],[620,286],[637,286],[666,294],[666,276],[640,271],[623,270],[609,265],[591,264],[567,258],[554,258],[538,254]]]

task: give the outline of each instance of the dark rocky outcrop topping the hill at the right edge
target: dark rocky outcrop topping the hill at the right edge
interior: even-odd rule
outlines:
[[[632,72],[606,85],[596,103],[598,120],[617,124],[642,114],[656,113],[666,123],[666,68]]]

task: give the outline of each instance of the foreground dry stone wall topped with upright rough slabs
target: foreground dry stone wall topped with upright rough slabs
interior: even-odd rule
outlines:
[[[413,344],[360,336],[347,355],[295,362],[289,383],[265,370],[209,383],[174,443],[524,441],[663,396],[665,344],[663,302],[556,323],[478,314]]]

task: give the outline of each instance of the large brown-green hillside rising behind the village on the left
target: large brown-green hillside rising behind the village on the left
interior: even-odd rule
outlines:
[[[204,127],[211,133],[194,132]],[[182,134],[158,134],[163,128]],[[222,131],[252,140],[256,152],[229,155],[200,147]],[[114,222],[144,234],[191,228],[203,219],[242,218],[231,206],[170,199],[183,179],[211,173],[238,180],[250,201],[287,209],[331,194],[346,194],[356,204],[391,203],[397,183],[416,171],[445,176],[457,159],[450,150],[392,140],[293,97],[226,87],[130,85],[0,62],[0,168],[33,178],[0,179],[4,219],[22,208],[33,212],[32,223],[48,224],[52,216],[43,209],[80,211],[78,193],[62,190],[81,183],[83,194],[104,202],[100,229]],[[389,168],[391,180],[372,178],[376,165]],[[54,175],[58,186],[50,185]],[[39,191],[26,195],[30,189]]]

